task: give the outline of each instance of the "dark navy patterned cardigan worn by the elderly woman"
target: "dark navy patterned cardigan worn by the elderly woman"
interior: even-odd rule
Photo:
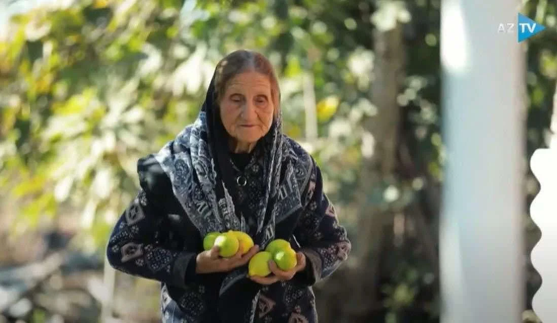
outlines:
[[[319,167],[307,152],[296,147],[292,153],[311,162],[309,180],[301,190],[304,208],[290,237],[292,247],[306,255],[306,271],[290,281],[263,286],[253,322],[317,322],[311,286],[333,273],[351,249],[346,230],[323,192]],[[167,175],[153,156],[139,160],[138,173],[139,193],[119,218],[109,239],[106,255],[110,265],[162,283],[163,322],[197,323],[195,315],[188,312],[203,312],[201,322],[221,322],[211,304],[217,303],[223,275],[195,272],[196,256],[203,250],[199,231],[188,221]],[[252,180],[257,181],[257,176]],[[191,286],[202,289],[206,299],[187,297]]]

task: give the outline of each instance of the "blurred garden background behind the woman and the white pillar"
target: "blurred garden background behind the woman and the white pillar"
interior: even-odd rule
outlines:
[[[439,322],[440,0],[2,1],[0,322],[160,321],[158,282],[110,269],[105,244],[138,158],[194,120],[238,48],[274,64],[285,131],[319,163],[353,242],[315,286],[320,321]],[[521,12],[548,27],[525,44],[527,165],[551,135],[557,4]],[[524,183],[528,206],[528,167]],[[540,233],[526,207],[524,231],[529,255]],[[526,259],[523,320],[539,322]]]

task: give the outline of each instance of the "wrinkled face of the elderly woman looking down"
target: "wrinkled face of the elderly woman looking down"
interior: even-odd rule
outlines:
[[[224,128],[241,145],[257,142],[271,128],[275,106],[265,74],[245,72],[233,77],[219,105]]]

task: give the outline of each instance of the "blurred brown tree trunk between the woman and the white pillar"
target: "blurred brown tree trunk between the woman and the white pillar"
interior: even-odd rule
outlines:
[[[377,293],[380,253],[384,233],[392,230],[394,211],[383,207],[383,191],[395,183],[400,107],[397,96],[404,81],[404,45],[402,26],[389,31],[374,31],[375,65],[371,97],[377,115],[364,122],[365,137],[373,137],[373,154],[365,156],[360,172],[358,232],[352,237],[352,257],[358,269],[351,274],[349,300],[345,302],[350,322],[367,322],[370,312],[382,309]],[[365,138],[364,137],[364,138]],[[379,198],[377,198],[379,197]]]

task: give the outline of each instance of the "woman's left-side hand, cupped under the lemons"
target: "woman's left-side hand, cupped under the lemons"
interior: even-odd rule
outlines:
[[[231,271],[236,267],[246,265],[253,255],[257,254],[259,246],[255,245],[242,256],[241,250],[230,258],[222,258],[218,255],[218,246],[213,246],[207,251],[201,252],[196,258],[196,274],[209,274],[211,272]]]

